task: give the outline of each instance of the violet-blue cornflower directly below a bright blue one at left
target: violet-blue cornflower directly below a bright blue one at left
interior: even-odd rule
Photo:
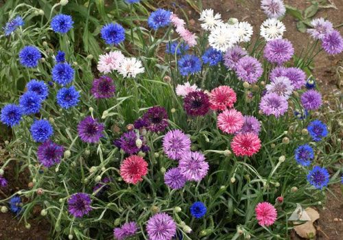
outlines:
[[[47,140],[39,145],[37,150],[37,156],[40,163],[45,167],[51,167],[56,163],[60,163],[63,156],[64,147]]]

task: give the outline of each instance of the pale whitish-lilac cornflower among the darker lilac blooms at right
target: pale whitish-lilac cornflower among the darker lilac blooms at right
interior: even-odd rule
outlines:
[[[275,77],[273,82],[265,85],[267,93],[276,93],[279,96],[289,99],[289,96],[292,95],[294,86],[288,77]]]

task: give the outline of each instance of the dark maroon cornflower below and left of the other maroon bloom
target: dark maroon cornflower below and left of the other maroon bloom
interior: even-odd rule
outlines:
[[[149,123],[147,130],[152,132],[163,132],[168,127],[167,111],[160,106],[154,106],[147,110],[142,119]]]

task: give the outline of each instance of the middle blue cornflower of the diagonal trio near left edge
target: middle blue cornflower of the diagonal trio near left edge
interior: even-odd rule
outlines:
[[[25,115],[36,114],[42,107],[42,99],[40,95],[33,91],[27,91],[19,98],[19,105]]]

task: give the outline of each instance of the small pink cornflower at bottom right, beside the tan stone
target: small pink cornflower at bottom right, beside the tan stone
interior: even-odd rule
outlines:
[[[255,213],[260,226],[270,226],[276,221],[276,208],[269,202],[260,202],[257,204]]]

